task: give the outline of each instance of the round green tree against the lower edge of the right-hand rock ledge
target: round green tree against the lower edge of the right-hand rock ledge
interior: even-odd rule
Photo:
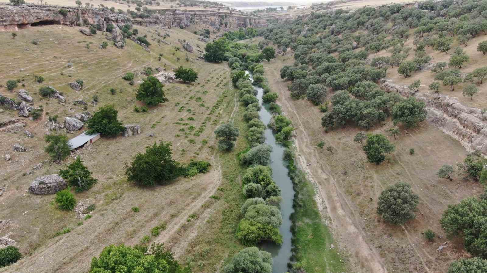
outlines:
[[[419,122],[426,119],[425,107],[424,102],[416,101],[413,97],[396,103],[392,111],[394,125],[402,123],[406,131],[417,126]]]

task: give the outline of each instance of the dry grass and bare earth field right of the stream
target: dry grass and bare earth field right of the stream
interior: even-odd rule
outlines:
[[[279,56],[265,66],[265,73],[271,89],[280,95],[278,102],[283,111],[297,128],[301,167],[317,183],[324,197],[324,217],[329,220],[339,247],[350,254],[352,268],[356,272],[445,272],[452,260],[468,256],[458,239],[451,240],[443,252],[436,252],[439,245],[450,240],[439,223],[447,205],[483,192],[481,185],[464,180],[461,174],[451,182],[435,175],[442,165],[454,166],[463,161],[467,151],[462,145],[425,121],[409,133],[401,130],[403,135],[396,140],[390,136],[396,149],[381,165],[367,163],[360,145],[353,142],[359,128],[350,125],[325,133],[318,107],[289,96],[289,83],[281,80],[279,70],[293,62],[290,53]],[[393,77],[393,70],[388,71],[387,78]],[[392,126],[388,119],[387,124],[377,125],[369,132],[387,136],[386,130]],[[322,152],[316,147],[319,141],[333,146],[335,152]],[[413,155],[410,148],[415,150]],[[420,203],[416,219],[394,226],[377,217],[376,205],[380,192],[398,181],[411,184]],[[429,228],[441,239],[424,239],[422,233]]]

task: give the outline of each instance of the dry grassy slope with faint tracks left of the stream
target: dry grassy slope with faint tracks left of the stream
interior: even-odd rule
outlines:
[[[209,197],[217,191],[222,180],[213,131],[220,122],[228,120],[235,105],[233,91],[225,91],[231,88],[228,85],[229,70],[225,65],[198,59],[196,45],[201,48],[205,45],[197,41],[197,35],[186,30],[159,29],[163,34],[170,34],[166,39],[170,45],[167,45],[157,43],[155,29],[135,28],[139,29],[139,35],[148,35],[151,52],[131,40],[127,40],[123,50],[112,45],[98,49],[98,44],[106,41],[104,33],[85,36],[77,27],[31,27],[18,32],[15,39],[10,33],[0,33],[1,48],[8,49],[1,53],[0,82],[24,79],[25,83],[25,87],[19,84],[13,92],[2,86],[0,93],[16,98],[17,91],[24,88],[34,98],[34,106],[42,105],[44,109],[38,120],[20,118],[26,122],[25,129],[32,132],[34,138],[28,138],[23,131],[0,133],[0,154],[12,155],[11,163],[0,161],[0,186],[6,187],[0,196],[0,219],[12,222],[2,227],[0,236],[13,232],[11,238],[26,256],[1,272],[86,272],[91,257],[97,256],[104,246],[139,243],[144,236],[150,236],[151,228],[162,223],[166,224],[166,230],[157,237],[150,236],[150,242],[165,242],[180,256],[200,225],[222,205]],[[36,46],[31,43],[33,39],[42,41]],[[176,51],[175,47],[182,47],[177,39],[186,39],[193,45],[195,53]],[[158,61],[159,53],[163,53],[161,61]],[[67,67],[68,62],[73,64],[72,68]],[[137,83],[145,77],[140,74],[145,67],[161,68],[164,72],[164,69],[170,71],[179,65],[197,70],[198,81],[166,84],[164,90],[169,102],[151,107],[147,113],[134,112],[134,105],[141,105],[135,100],[137,84],[131,86],[121,77],[126,72],[134,72]],[[44,83],[35,83],[34,74],[42,75]],[[76,79],[83,79],[85,83],[80,91],[68,85]],[[41,98],[37,90],[43,85],[52,85],[62,92],[66,104]],[[117,90],[115,95],[109,92],[110,88]],[[97,106],[89,103],[95,94],[99,97]],[[114,104],[119,111],[118,119],[123,124],[140,124],[142,133],[127,138],[102,137],[75,152],[61,165],[50,163],[43,152],[43,138],[48,132],[45,123],[49,116],[58,115],[58,122],[62,123],[64,117],[85,111],[82,106],[72,103],[77,99],[88,102],[87,111],[92,113],[99,106]],[[6,109],[0,115],[2,120],[17,118],[17,112]],[[77,134],[79,132],[68,134],[68,137]],[[180,178],[168,186],[132,186],[126,181],[124,164],[129,163],[137,152],[143,152],[147,145],[160,140],[172,142],[176,160],[208,160],[212,163],[211,171],[193,178]],[[27,152],[14,152],[14,143],[24,145]],[[99,179],[94,188],[75,194],[77,201],[94,201],[93,217],[88,220],[77,219],[74,212],[57,209],[53,204],[54,195],[37,196],[27,192],[36,177],[56,173],[74,160],[75,155],[81,156]],[[43,163],[40,170],[26,174],[39,162]],[[140,212],[133,212],[131,207],[134,206],[139,207]],[[72,230],[54,238],[65,228]]]

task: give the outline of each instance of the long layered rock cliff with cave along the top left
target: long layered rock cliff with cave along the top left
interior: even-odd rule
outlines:
[[[59,9],[67,11],[67,15],[59,14]],[[0,5],[0,31],[15,31],[32,24],[60,24],[82,25],[84,21],[90,24],[99,24],[103,31],[108,23],[119,26],[133,21],[139,25],[160,25],[170,28],[172,26],[187,27],[193,24],[207,24],[213,27],[266,27],[265,19],[248,17],[215,11],[186,11],[166,10],[166,14],[154,14],[146,19],[131,19],[126,15],[112,14],[107,10],[91,8],[59,7],[50,5]]]

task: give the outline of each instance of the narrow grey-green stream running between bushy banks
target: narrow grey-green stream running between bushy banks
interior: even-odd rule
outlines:
[[[250,75],[250,80],[253,82],[254,79],[252,75],[245,71],[245,73]],[[269,103],[262,102],[263,89],[259,86],[254,85],[257,90],[257,98],[259,103],[262,105],[259,111],[259,116],[262,122],[266,125],[265,129],[265,143],[272,147],[271,152],[271,169],[272,169],[272,179],[281,188],[281,213],[282,213],[282,225],[279,228],[282,235],[282,245],[276,245],[273,242],[265,242],[261,244],[261,248],[272,254],[274,264],[272,265],[272,273],[285,273],[287,272],[287,263],[291,257],[291,239],[293,237],[291,233],[291,220],[289,217],[294,211],[293,209],[293,198],[294,189],[293,183],[289,176],[287,176],[287,168],[285,161],[282,160],[282,154],[284,153],[285,147],[281,143],[276,142],[276,138],[272,133],[272,130],[267,127],[267,124],[272,118],[272,114],[269,111]]]

